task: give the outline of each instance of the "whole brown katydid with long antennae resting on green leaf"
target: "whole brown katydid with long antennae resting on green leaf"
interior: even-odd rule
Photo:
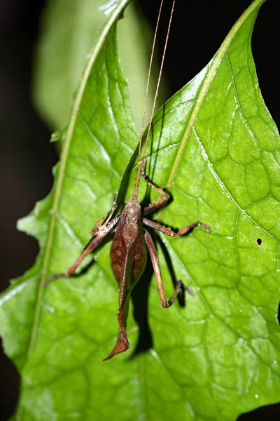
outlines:
[[[146,215],[149,213],[153,213],[158,208],[165,206],[167,201],[169,200],[167,193],[161,187],[157,187],[148,179],[146,176],[146,148],[148,145],[148,138],[151,133],[151,126],[153,121],[153,114],[155,111],[155,101],[158,96],[158,88],[160,85],[160,79],[162,74],[162,66],[165,59],[165,52],[167,48],[167,41],[169,38],[169,29],[172,22],[172,15],[174,12],[174,4],[175,0],[173,0],[172,4],[172,11],[170,14],[169,19],[169,26],[167,29],[167,37],[165,41],[165,48],[162,55],[162,63],[160,66],[160,73],[158,76],[158,83],[157,88],[155,91],[155,98],[153,101],[153,109],[151,113],[150,123],[148,125],[148,133],[146,136],[146,142],[144,145],[144,153],[142,156],[142,160],[140,160],[141,156],[141,143],[144,133],[144,119],[146,114],[146,102],[148,97],[148,85],[151,75],[151,65],[153,61],[153,52],[155,47],[155,39],[157,36],[158,31],[158,24],[160,20],[160,13],[162,10],[163,0],[161,0],[160,4],[160,11],[158,14],[158,22],[155,28],[155,36],[153,40],[153,48],[151,53],[151,61],[150,67],[148,71],[148,81],[146,86],[146,96],[144,102],[144,112],[143,112],[143,119],[141,124],[141,135],[139,141],[139,152],[137,157],[137,167],[136,167],[136,174],[134,178],[134,189],[132,192],[132,196],[130,200],[125,204],[123,211],[119,213],[116,217],[113,218],[113,215],[117,209],[117,193],[114,195],[113,199],[113,207],[111,208],[108,215],[105,218],[97,221],[94,229],[90,233],[92,239],[87,246],[85,246],[83,253],[80,254],[76,262],[73,263],[71,267],[64,273],[64,274],[55,274],[47,281],[43,282],[43,285],[46,285],[57,278],[68,278],[72,276],[75,272],[77,267],[80,265],[81,262],[87,257],[89,253],[91,253],[94,248],[96,248],[109,234],[115,233],[113,242],[111,245],[111,267],[113,270],[113,274],[116,278],[119,287],[119,304],[118,304],[118,324],[119,324],[119,333],[118,339],[116,342],[116,346],[113,348],[111,353],[105,358],[110,359],[112,356],[119,354],[120,352],[124,352],[130,346],[127,340],[127,332],[125,330],[126,327],[126,320],[127,320],[127,311],[128,305],[130,302],[130,295],[132,293],[132,289],[139,281],[141,274],[143,274],[144,269],[146,267],[147,262],[147,248],[149,255],[151,257],[151,262],[153,265],[153,270],[155,272],[155,278],[158,284],[158,293],[160,295],[160,304],[164,308],[168,308],[172,305],[176,297],[179,295],[181,290],[185,290],[188,288],[184,288],[183,283],[181,281],[177,281],[176,288],[174,290],[174,294],[172,298],[167,300],[165,296],[165,290],[162,282],[162,275],[160,272],[160,262],[158,260],[158,253],[155,248],[155,244],[151,235],[149,234],[146,228],[152,228],[157,231],[160,231],[168,236],[183,236],[187,234],[190,229],[194,227],[201,226],[210,230],[208,225],[203,224],[202,222],[193,222],[186,227],[179,229],[178,232],[174,232],[170,227],[165,227],[160,225],[153,220],[148,220]],[[155,189],[156,192],[160,194],[160,198],[157,201],[151,203],[150,205],[146,206],[145,208],[141,208],[138,198],[139,192],[139,185],[140,180],[143,178],[149,186]]]

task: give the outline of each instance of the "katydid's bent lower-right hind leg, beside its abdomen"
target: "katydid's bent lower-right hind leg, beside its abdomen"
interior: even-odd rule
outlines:
[[[158,293],[160,294],[160,304],[162,307],[167,309],[173,304],[174,300],[178,297],[180,291],[184,289],[184,286],[181,281],[177,281],[174,294],[172,295],[172,298],[170,298],[167,301],[167,298],[165,295],[165,288],[162,282],[162,274],[160,272],[160,261],[158,260],[158,252],[157,252],[157,249],[155,248],[155,243],[153,242],[153,239],[151,235],[148,233],[148,231],[145,231],[144,238],[148,247],[148,251],[151,256],[153,271],[155,272],[155,279],[157,280],[157,284],[158,284]]]

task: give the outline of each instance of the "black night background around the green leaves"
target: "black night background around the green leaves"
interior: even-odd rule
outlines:
[[[0,1],[0,290],[8,286],[9,279],[34,263],[37,243],[18,232],[15,224],[50,191],[51,168],[58,159],[55,146],[49,143],[50,131],[36,114],[30,94],[32,58],[44,4],[43,0]],[[159,1],[139,0],[139,4],[154,27]],[[165,74],[172,93],[207,64],[249,4],[251,1],[246,0],[177,0],[165,60]],[[162,22],[160,44],[164,42],[165,27]],[[260,9],[252,48],[262,96],[278,127],[279,41],[279,2],[268,0]],[[13,364],[0,350],[0,420],[7,420],[13,413],[18,382]],[[279,420],[280,405],[260,408],[239,420],[265,420],[265,417]]]

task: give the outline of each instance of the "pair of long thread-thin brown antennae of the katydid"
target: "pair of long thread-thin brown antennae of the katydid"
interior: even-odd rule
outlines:
[[[139,190],[139,185],[140,185],[140,180],[141,180],[141,169],[142,169],[142,166],[143,166],[143,160],[144,160],[144,158],[146,156],[146,150],[147,150],[147,146],[148,146],[148,138],[149,138],[150,133],[151,133],[151,127],[152,127],[152,123],[153,123],[153,114],[155,112],[155,104],[156,104],[156,101],[157,101],[157,98],[158,98],[158,89],[160,88],[160,79],[162,77],[163,63],[165,62],[165,53],[167,51],[167,43],[168,43],[168,39],[169,39],[169,32],[170,32],[170,27],[171,27],[171,23],[172,23],[173,13],[174,13],[175,1],[176,0],[173,0],[173,3],[172,3],[172,10],[171,10],[171,13],[170,13],[169,25],[168,25],[168,28],[167,28],[167,36],[166,36],[166,39],[165,39],[165,48],[164,48],[163,54],[162,54],[162,62],[160,64],[160,72],[158,74],[158,83],[157,83],[157,87],[156,87],[156,90],[155,90],[155,97],[154,97],[154,100],[153,100],[153,109],[152,109],[152,112],[151,112],[151,119],[150,119],[150,122],[149,122],[149,125],[148,125],[148,133],[147,133],[145,147],[144,147],[144,152],[143,152],[143,156],[142,156],[141,168],[140,168],[140,171],[139,171],[139,160],[140,160],[141,143],[142,143],[143,132],[144,132],[144,119],[145,119],[145,114],[144,114],[143,119],[142,119],[141,137],[140,137],[139,152],[138,152],[138,157],[137,157],[137,172],[136,172],[135,181],[134,181],[134,191],[133,191],[134,194],[138,194],[138,190]],[[161,8],[162,8],[162,3],[160,4],[160,12],[161,12]],[[160,12],[159,12],[159,15],[158,15],[158,22],[160,20]],[[155,38],[156,38],[157,31],[158,31],[158,23],[157,23],[157,27],[155,29],[155,37],[154,37],[152,54],[153,54],[153,50],[154,50],[154,46],[155,46]],[[150,79],[150,74],[151,74],[152,60],[153,60],[153,57],[151,56],[150,69],[149,69],[149,73],[148,73],[148,81]],[[145,97],[144,112],[146,112],[147,98],[148,98],[148,83],[147,83],[147,87],[146,87],[146,97]]]

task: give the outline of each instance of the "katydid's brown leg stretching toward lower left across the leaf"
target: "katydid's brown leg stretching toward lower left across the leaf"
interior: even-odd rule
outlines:
[[[87,255],[89,255],[94,250],[94,248],[97,248],[97,246],[106,238],[106,236],[111,234],[111,232],[116,229],[119,221],[120,215],[116,216],[116,218],[114,218],[109,224],[99,227],[95,233],[94,238],[90,240],[87,246],[85,246],[83,253],[80,254],[76,262],[74,262],[73,265],[69,267],[69,269],[64,274],[52,275],[50,279],[43,281],[41,285],[45,286],[48,283],[55,281],[55,279],[68,278],[69,276],[73,275],[76,272],[77,267],[80,266],[81,262],[83,262]]]

